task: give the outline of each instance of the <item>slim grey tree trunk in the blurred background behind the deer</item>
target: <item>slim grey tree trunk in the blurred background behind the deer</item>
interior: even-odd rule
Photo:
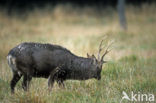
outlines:
[[[126,16],[125,16],[125,0],[118,0],[117,4],[120,26],[123,30],[127,30]]]

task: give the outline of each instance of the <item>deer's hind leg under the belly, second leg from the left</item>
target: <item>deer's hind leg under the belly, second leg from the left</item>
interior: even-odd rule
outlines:
[[[24,91],[28,91],[30,81],[32,80],[32,76],[24,75],[22,87]]]

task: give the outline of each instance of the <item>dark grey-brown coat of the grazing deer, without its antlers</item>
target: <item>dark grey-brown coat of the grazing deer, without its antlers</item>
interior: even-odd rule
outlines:
[[[10,50],[7,59],[13,71],[12,92],[21,76],[24,76],[22,86],[25,90],[32,77],[50,78],[49,85],[53,84],[50,82],[54,82],[55,75],[60,84],[66,79],[101,78],[101,69],[92,58],[76,56],[58,45],[22,43]],[[57,72],[56,68],[59,68]]]

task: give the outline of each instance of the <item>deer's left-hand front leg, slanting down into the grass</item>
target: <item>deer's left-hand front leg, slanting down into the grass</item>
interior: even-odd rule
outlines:
[[[48,78],[48,89],[49,91],[52,90],[52,87],[54,85],[55,79],[57,78],[56,74],[58,73],[58,71],[60,70],[59,67],[56,67],[51,73],[50,76]]]

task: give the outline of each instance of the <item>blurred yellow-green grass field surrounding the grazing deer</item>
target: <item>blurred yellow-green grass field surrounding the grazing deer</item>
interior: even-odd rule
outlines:
[[[130,95],[152,93],[156,96],[156,5],[126,7],[128,30],[120,30],[117,12],[112,8],[75,8],[58,5],[35,9],[9,17],[0,10],[0,103],[119,103],[122,91]],[[29,92],[21,80],[11,95],[12,72],[7,65],[8,51],[25,41],[64,46],[76,55],[97,55],[105,35],[115,40],[106,56],[100,81],[65,82],[65,89],[55,84],[49,92],[47,79],[33,78]],[[156,100],[155,100],[156,102]],[[129,103],[124,100],[123,103]],[[153,102],[154,103],[154,102]]]

